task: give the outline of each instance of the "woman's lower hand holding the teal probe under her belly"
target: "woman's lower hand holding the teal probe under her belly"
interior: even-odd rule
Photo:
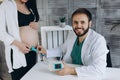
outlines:
[[[18,47],[18,49],[23,53],[28,53],[30,51],[30,46],[24,42],[19,42],[14,40],[12,45],[15,45]]]

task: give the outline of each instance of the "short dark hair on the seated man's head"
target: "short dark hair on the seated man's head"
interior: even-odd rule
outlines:
[[[88,20],[91,21],[92,20],[92,14],[89,10],[87,10],[86,8],[78,8],[75,12],[73,12],[71,20],[73,19],[73,16],[76,14],[86,14],[88,17]]]

